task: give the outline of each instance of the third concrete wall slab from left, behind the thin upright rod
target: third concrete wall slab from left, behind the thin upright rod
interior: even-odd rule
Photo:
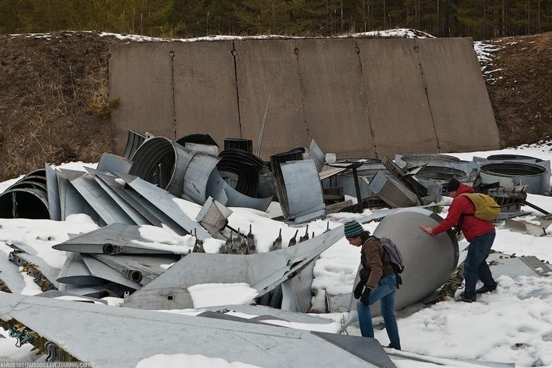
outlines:
[[[235,41],[242,137],[257,150],[268,95],[261,157],[308,146],[295,40]]]

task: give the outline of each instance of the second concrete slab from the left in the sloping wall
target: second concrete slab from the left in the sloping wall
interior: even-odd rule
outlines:
[[[233,43],[177,43],[175,106],[177,139],[192,133],[209,134],[219,146],[239,137]]]

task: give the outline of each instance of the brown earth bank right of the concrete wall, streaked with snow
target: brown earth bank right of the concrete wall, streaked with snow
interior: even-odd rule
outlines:
[[[487,90],[502,146],[552,137],[552,32],[491,42],[495,53]]]

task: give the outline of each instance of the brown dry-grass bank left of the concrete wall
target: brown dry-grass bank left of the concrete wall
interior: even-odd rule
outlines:
[[[0,36],[0,181],[111,151],[108,48],[92,32]]]

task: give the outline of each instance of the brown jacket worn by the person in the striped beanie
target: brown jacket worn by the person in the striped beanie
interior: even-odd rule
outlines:
[[[360,250],[360,263],[368,272],[366,287],[374,289],[383,276],[393,275],[393,267],[389,255],[384,252],[382,243],[377,238],[368,238]]]

